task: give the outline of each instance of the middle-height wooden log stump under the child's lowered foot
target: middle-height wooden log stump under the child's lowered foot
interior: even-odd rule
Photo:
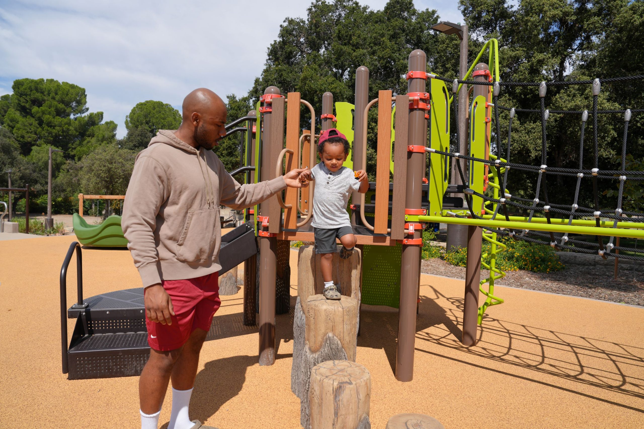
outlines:
[[[304,333],[298,332],[298,338],[303,338],[301,344],[293,344],[291,390],[300,399],[300,423],[309,428],[311,370],[328,360],[355,361],[358,302],[350,297],[327,300],[324,295],[312,295],[305,307],[306,318],[298,316],[294,322],[296,329],[304,328]]]

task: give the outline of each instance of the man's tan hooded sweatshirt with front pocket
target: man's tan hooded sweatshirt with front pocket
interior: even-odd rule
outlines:
[[[143,286],[219,271],[220,204],[247,208],[285,187],[282,177],[240,185],[213,151],[159,131],[137,155],[122,218]]]

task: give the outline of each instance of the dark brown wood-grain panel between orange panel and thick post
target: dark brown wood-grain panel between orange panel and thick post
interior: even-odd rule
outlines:
[[[395,141],[393,141],[392,239],[404,239],[404,206],[407,188],[407,138],[409,96],[396,96]],[[377,198],[376,198],[377,201]]]

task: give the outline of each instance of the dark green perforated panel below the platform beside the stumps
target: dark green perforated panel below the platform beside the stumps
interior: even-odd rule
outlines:
[[[398,308],[401,295],[403,246],[370,246],[363,250],[362,302]]]

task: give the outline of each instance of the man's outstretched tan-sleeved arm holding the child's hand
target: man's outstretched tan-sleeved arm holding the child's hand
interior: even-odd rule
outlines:
[[[279,176],[272,180],[240,185],[225,170],[222,161],[219,161],[219,167],[218,176],[222,188],[220,202],[234,210],[242,210],[259,204],[287,186],[291,188],[306,187],[306,185],[298,181],[298,176],[303,169],[291,170],[284,176]]]

